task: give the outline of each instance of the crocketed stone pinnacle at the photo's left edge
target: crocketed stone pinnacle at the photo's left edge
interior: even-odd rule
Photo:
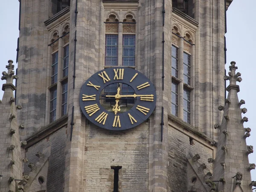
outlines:
[[[3,72],[2,80],[6,80],[3,84],[3,99],[0,101],[0,132],[1,132],[1,166],[0,166],[0,191],[15,191],[17,183],[15,179],[22,177],[22,165],[20,161],[20,138],[19,126],[17,125],[17,109],[21,109],[20,105],[15,106],[15,98],[13,91],[16,87],[12,84],[14,76],[13,61],[9,60],[6,65],[8,72]]]

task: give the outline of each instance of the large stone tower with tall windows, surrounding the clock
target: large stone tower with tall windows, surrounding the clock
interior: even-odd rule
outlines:
[[[12,173],[12,167],[0,172],[4,190],[16,190],[14,181],[8,184],[10,175],[25,180],[19,190],[26,192],[250,191],[256,184],[250,180],[254,165],[248,164],[247,155],[253,150],[246,148],[250,131],[244,136],[239,120],[234,63],[230,77],[225,76],[230,3],[20,0],[15,102],[22,109],[3,130],[15,123],[20,140],[6,133],[10,142],[5,149],[12,142],[17,145],[14,151],[22,148],[15,152],[19,163],[12,165],[18,173]],[[81,111],[84,82],[112,67],[137,70],[154,84],[154,112],[135,128],[100,128]],[[231,81],[227,99],[223,76]],[[14,98],[15,88],[8,84],[3,104],[11,108],[5,110],[4,122],[16,110],[6,100]],[[123,93],[134,93],[119,86]],[[105,92],[116,94],[113,87]],[[111,110],[104,97],[102,93],[102,106]],[[219,107],[224,109],[222,118],[218,106],[225,102]],[[133,105],[127,99],[121,108],[127,111]],[[16,119],[24,129],[18,130]],[[240,144],[234,142],[236,131]],[[233,149],[237,146],[243,154],[239,163],[234,159],[240,157]],[[5,159],[6,166],[10,160]]]

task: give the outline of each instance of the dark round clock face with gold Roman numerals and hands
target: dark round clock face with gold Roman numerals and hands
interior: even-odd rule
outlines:
[[[124,87],[133,89],[134,93],[124,93]],[[111,93],[104,92],[107,88]],[[87,119],[109,130],[140,125],[154,111],[156,100],[154,84],[128,67],[111,67],[95,73],[83,84],[79,96],[81,110]],[[122,110],[129,107],[128,111]]]

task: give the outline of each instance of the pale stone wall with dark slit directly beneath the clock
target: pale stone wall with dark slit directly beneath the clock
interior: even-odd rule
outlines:
[[[119,169],[119,192],[148,191],[148,123],[109,131],[91,123],[84,147],[84,192],[113,192],[113,169]]]

